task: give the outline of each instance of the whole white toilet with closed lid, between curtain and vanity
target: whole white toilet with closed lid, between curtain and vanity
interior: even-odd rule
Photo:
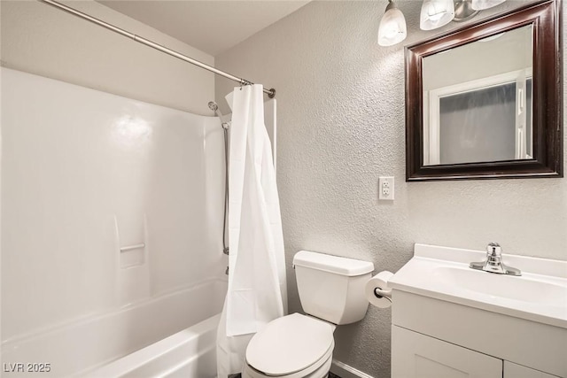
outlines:
[[[246,348],[244,378],[324,378],[329,374],[337,325],[362,320],[368,261],[299,251],[293,258],[299,300],[307,315],[270,321]]]

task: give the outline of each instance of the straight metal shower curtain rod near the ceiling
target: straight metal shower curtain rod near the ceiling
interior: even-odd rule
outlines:
[[[166,54],[171,55],[172,57],[175,57],[175,58],[179,58],[179,59],[181,59],[181,60],[184,60],[184,61],[190,63],[191,65],[195,65],[195,66],[198,66],[198,67],[201,67],[201,68],[205,68],[207,71],[210,71],[210,72],[212,72],[212,73],[216,73],[216,74],[221,75],[221,76],[223,76],[223,77],[226,77],[227,79],[230,79],[231,81],[237,81],[237,82],[239,82],[241,85],[251,85],[251,84],[253,84],[252,81],[247,81],[247,80],[245,80],[245,79],[241,79],[241,78],[239,78],[239,77],[237,77],[237,76],[235,76],[235,75],[232,75],[232,74],[230,74],[230,73],[225,73],[224,71],[221,71],[221,70],[219,70],[219,69],[216,69],[216,68],[214,68],[213,66],[208,66],[208,65],[206,65],[205,63],[199,62],[199,61],[196,60],[196,59],[189,58],[188,56],[183,55],[182,53],[177,52],[177,51],[175,51],[175,50],[167,49],[167,47],[161,46],[160,44],[158,44],[158,43],[156,43],[156,42],[151,42],[150,40],[145,39],[144,37],[141,37],[141,36],[139,36],[139,35],[135,35],[134,33],[130,33],[130,32],[128,32],[128,31],[124,30],[124,29],[121,29],[120,27],[115,27],[115,26],[113,26],[112,24],[109,24],[109,23],[107,23],[107,22],[105,22],[105,21],[102,21],[102,20],[100,20],[100,19],[96,19],[96,18],[94,18],[94,17],[92,17],[92,16],[89,16],[89,15],[86,14],[86,13],[77,11],[76,9],[71,8],[71,7],[69,7],[69,6],[66,6],[66,5],[64,5],[64,4],[58,3],[58,2],[53,1],[53,0],[38,0],[38,1],[40,1],[40,2],[42,2],[42,3],[45,3],[45,4],[50,4],[50,5],[52,5],[52,6],[56,7],[56,8],[58,8],[58,9],[60,9],[60,10],[62,10],[62,11],[71,13],[71,14],[73,14],[74,16],[80,17],[80,18],[82,18],[82,19],[86,19],[86,20],[88,20],[88,21],[90,21],[90,22],[92,22],[92,23],[94,23],[94,24],[97,24],[97,25],[100,26],[100,27],[105,27],[105,28],[107,28],[107,29],[109,29],[109,30],[112,30],[114,33],[118,33],[119,35],[127,36],[128,38],[131,38],[131,39],[133,39],[133,40],[136,41],[136,42],[140,42],[140,43],[142,43],[142,44],[145,44],[146,46],[149,46],[149,47],[151,47],[151,48],[153,48],[153,49],[155,49],[155,50],[159,50],[159,51],[161,51],[161,52],[165,52]],[[272,89],[264,89],[264,93],[266,93],[269,98],[274,98],[274,97],[276,96],[276,89],[273,89],[273,88],[272,88]]]

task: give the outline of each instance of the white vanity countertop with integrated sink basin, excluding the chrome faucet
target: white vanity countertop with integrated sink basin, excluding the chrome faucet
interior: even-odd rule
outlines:
[[[471,269],[484,251],[416,244],[414,258],[390,280],[407,291],[459,305],[567,328],[567,261],[502,254],[521,276]]]

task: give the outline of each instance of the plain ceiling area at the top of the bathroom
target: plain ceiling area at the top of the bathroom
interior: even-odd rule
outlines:
[[[217,56],[309,1],[97,0],[114,11]]]

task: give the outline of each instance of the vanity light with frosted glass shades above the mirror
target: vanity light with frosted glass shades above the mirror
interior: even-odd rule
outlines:
[[[450,21],[464,21],[476,16],[479,11],[492,8],[506,0],[423,0],[419,19],[422,30],[432,30],[447,25]],[[378,44],[392,46],[406,39],[408,31],[404,14],[393,0],[388,0],[384,16],[378,28]]]

